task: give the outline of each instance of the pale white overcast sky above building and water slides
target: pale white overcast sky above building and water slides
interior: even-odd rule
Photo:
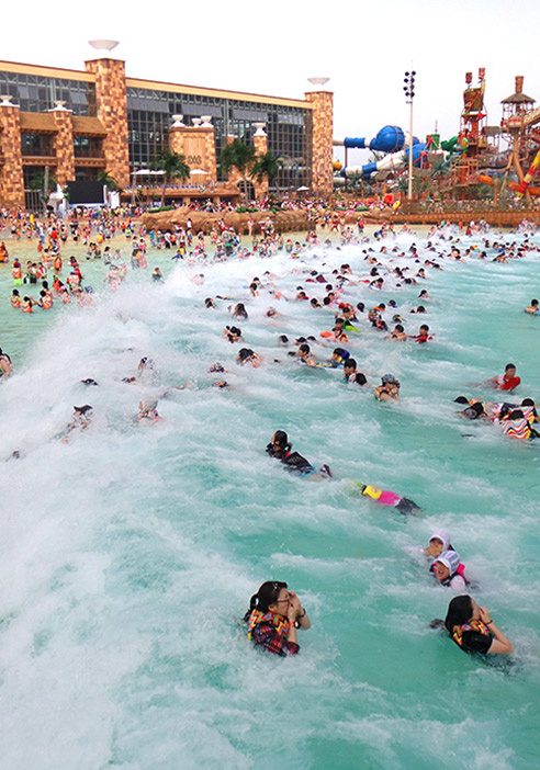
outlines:
[[[371,137],[386,124],[408,129],[403,78],[414,69],[414,134],[425,138],[437,125],[450,138],[466,71],[476,83],[479,67],[486,68],[490,125],[499,123],[516,75],[540,101],[537,8],[537,0],[94,0],[44,11],[25,0],[2,8],[0,55],[83,69],[95,55],[88,41],[112,38],[131,77],[293,99],[313,88],[307,78],[328,77],[336,138]]]

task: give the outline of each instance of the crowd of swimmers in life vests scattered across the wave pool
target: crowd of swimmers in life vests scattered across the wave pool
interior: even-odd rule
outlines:
[[[381,295],[380,293],[382,291],[387,291],[389,288],[394,293],[402,287],[419,284],[428,279],[428,273],[426,272],[428,269],[443,269],[440,262],[443,261],[445,258],[454,261],[466,261],[471,258],[485,259],[485,251],[477,251],[474,246],[462,249],[458,245],[459,239],[458,244],[452,242],[449,253],[441,253],[440,248],[435,247],[435,238],[438,237],[440,241],[443,242],[447,237],[445,233],[443,228],[441,228],[440,231],[434,229],[430,233],[430,237],[434,240],[428,240],[426,246],[429,252],[429,259],[425,259],[424,264],[418,267],[417,263],[420,261],[419,252],[414,244],[408,249],[408,252],[404,252],[397,246],[390,251],[390,247],[383,246],[379,252],[375,252],[374,249],[369,246],[370,241],[363,237],[360,228],[358,233],[355,233],[352,228],[342,228],[341,242],[358,244],[364,247],[362,254],[363,260],[369,265],[368,275],[355,275],[350,264],[347,262],[341,263],[339,269],[333,270],[331,276],[329,274],[325,275],[324,272],[319,270],[306,269],[304,271],[305,280],[303,284],[296,287],[293,296],[284,297],[277,285],[278,276],[270,273],[270,271],[266,271],[262,274],[262,279],[255,276],[249,282],[247,299],[249,301],[258,297],[265,292],[268,294],[271,302],[288,298],[291,302],[306,302],[320,313],[326,310],[326,315],[322,316],[320,327],[323,328],[319,327],[316,336],[308,335],[306,337],[297,337],[294,343],[291,343],[288,336],[282,333],[279,336],[279,348],[292,348],[286,352],[291,359],[294,359],[294,361],[301,365],[314,369],[339,369],[342,371],[342,381],[347,385],[371,388],[369,380],[372,378],[372,376],[376,377],[376,375],[359,371],[358,361],[351,354],[349,348],[353,348],[358,335],[361,335],[365,329],[370,328],[375,332],[380,332],[381,338],[387,339],[391,342],[406,342],[408,340],[414,344],[424,346],[434,340],[434,333],[427,324],[423,322],[419,325],[416,333],[408,333],[406,331],[405,320],[409,315],[415,318],[418,315],[425,316],[427,314],[430,295],[426,288],[421,288],[418,294],[420,304],[414,305],[405,312],[398,312],[400,308],[394,298],[387,302],[372,303],[371,306],[367,306],[365,303],[362,302],[356,305],[346,302],[344,295],[346,293],[350,294],[353,292],[353,287],[360,284],[370,292],[379,293],[379,295]],[[145,267],[146,246],[143,237],[144,234],[139,234],[138,237],[133,237],[133,235],[132,229],[126,233],[126,237],[133,238],[132,267]],[[160,237],[161,236],[162,234],[160,234]],[[216,246],[217,261],[223,258],[224,253],[225,257],[236,254],[241,258],[246,256],[245,247],[241,246],[239,239],[235,240],[230,234],[224,236],[223,233],[220,237],[223,244],[226,241],[230,245],[232,249],[229,249],[228,246],[225,248],[223,244],[218,244],[218,238],[211,238],[211,242],[214,242]],[[184,240],[182,240],[183,238]],[[56,240],[58,239],[64,241],[59,236]],[[161,240],[158,241],[156,240],[156,234],[150,234],[150,240],[153,245],[157,245],[158,242],[162,245],[165,242],[165,248],[176,247],[176,259],[184,259],[187,256],[187,248],[193,246],[194,241],[194,249],[196,250],[196,254],[194,256],[202,262],[207,258],[206,244],[202,234],[196,236],[196,240],[191,233],[188,236],[185,231],[183,231],[176,234],[173,238],[165,238],[165,236],[162,236]],[[223,250],[221,250],[222,245]],[[283,239],[269,227],[268,231],[263,234],[263,237],[257,241],[256,251],[266,256],[284,250],[291,256],[291,259],[297,259],[304,251],[319,245],[320,241],[317,239],[316,235],[311,236],[308,239],[306,238],[304,245],[299,241],[293,244],[290,239]],[[520,245],[507,245],[504,241],[490,242],[487,237],[484,239],[484,247],[485,250],[496,249],[497,261],[520,258],[528,251],[536,249],[527,239]],[[97,251],[93,249],[92,258],[98,258],[95,254]],[[382,261],[389,257],[409,257],[414,259],[417,267],[402,265],[391,269]],[[41,301],[38,304],[45,309],[50,307],[53,302],[53,292],[48,287],[46,278],[44,278],[44,274],[46,275],[47,264],[50,261],[54,262],[53,269],[56,276],[53,291],[77,294],[82,283],[80,267],[77,260],[71,258],[71,272],[67,279],[68,287],[63,287],[61,282],[60,285],[58,285],[56,279],[61,270],[61,257],[59,254],[59,248],[56,248],[54,244],[50,247],[50,252],[44,256],[42,262],[27,265],[25,275],[23,275],[20,262],[18,260],[13,262],[13,280],[16,286],[22,285],[25,281],[29,284],[36,284],[37,281],[42,281],[43,290],[40,294]],[[119,278],[119,270],[121,270],[121,268],[120,265],[113,264],[114,258],[110,253],[105,261],[109,265],[109,273],[105,280],[113,285],[113,288],[117,287],[116,282],[122,280]],[[43,270],[45,270],[44,274]],[[300,273],[301,270],[296,269],[295,272]],[[161,280],[159,269],[155,271],[153,279],[155,281]],[[198,273],[198,275],[193,278],[193,283],[199,285],[203,284],[204,274]],[[312,290],[316,290],[316,292],[314,293]],[[310,296],[311,294],[313,294],[313,296]],[[13,307],[21,307],[22,304],[29,299],[29,297],[20,298],[19,295],[20,291],[15,288],[12,295]],[[45,304],[43,304],[44,297],[46,297]],[[234,322],[225,325],[223,335],[232,346],[238,346],[233,358],[239,365],[259,367],[265,364],[265,359],[252,348],[247,347],[249,344],[249,342],[247,342],[249,335],[244,335],[241,329],[241,326],[248,322],[249,319],[246,298],[243,299],[243,302],[237,302],[234,306],[228,306],[228,312]],[[20,304],[18,304],[19,301]],[[217,309],[218,305],[216,301],[229,302],[230,297],[206,297],[204,306],[209,309]],[[22,307],[22,309],[25,308]],[[31,312],[31,309],[32,307],[26,312]],[[538,301],[532,299],[531,304],[526,308],[526,313],[529,315],[537,315]],[[271,305],[268,307],[266,316],[269,319],[275,319],[280,314],[275,307]],[[328,318],[331,318],[331,325],[327,324]],[[330,329],[325,329],[325,326],[330,326]],[[391,326],[393,326],[393,328],[391,328]],[[333,346],[331,354],[325,360],[319,360],[312,349],[312,346],[315,347],[316,343],[323,346],[330,343]],[[273,361],[281,362],[281,359],[273,359]],[[211,366],[210,370],[213,373],[221,374],[224,371],[221,364],[214,364],[213,366],[215,366],[215,369]],[[11,373],[11,360],[7,354],[0,351],[0,376],[7,377],[10,376]],[[155,370],[151,360],[144,358],[140,360],[137,367],[137,374],[126,377],[124,382],[127,384],[144,384],[145,378],[151,378],[153,374],[155,374]],[[402,387],[400,378],[392,373],[379,375],[379,377],[380,384],[373,386],[374,398],[379,401],[398,401]],[[487,381],[484,385],[499,390],[511,392],[519,385],[519,382],[515,365],[508,364],[503,375]],[[85,381],[85,384],[97,385],[93,380]],[[218,387],[227,386],[226,381],[218,381],[216,384]],[[481,399],[465,397],[460,397],[457,400],[464,406],[461,415],[465,418],[482,418],[503,424],[504,433],[511,438],[529,439],[536,438],[537,435],[532,426],[537,422],[538,417],[535,403],[530,398],[521,399],[520,404],[506,401],[492,404],[482,401]],[[91,424],[92,416],[93,409],[88,404],[81,407],[74,407],[71,421],[61,434],[61,440],[68,442],[75,432],[87,431]],[[143,394],[138,405],[138,414],[135,419],[138,423],[143,424],[160,422],[162,418],[158,412],[157,397]],[[521,424],[519,422],[520,420],[524,420],[527,427],[524,427],[525,423]],[[280,461],[288,471],[299,476],[317,480],[333,478],[334,474],[328,465],[324,464],[317,468],[299,452],[293,451],[289,437],[283,430],[274,432],[267,446],[267,453]],[[395,508],[402,514],[417,514],[420,510],[413,500],[391,490],[380,489],[373,485],[363,483],[357,483],[356,487],[357,491],[362,497],[378,505]],[[424,556],[429,559],[429,573],[437,584],[460,592],[473,588],[465,577],[464,566],[461,563],[459,553],[452,547],[450,537],[443,530],[435,531],[428,545],[421,551]],[[262,584],[257,593],[251,597],[245,620],[248,625],[248,637],[257,646],[279,655],[296,654],[300,649],[297,631],[307,630],[311,626],[306,610],[303,608],[300,598],[294,591],[289,590],[288,585],[282,581],[267,581]],[[468,593],[452,599],[442,625],[452,639],[465,652],[484,654],[513,652],[511,643],[497,629],[491,618],[491,613],[485,610],[485,608],[479,607],[474,599]]]

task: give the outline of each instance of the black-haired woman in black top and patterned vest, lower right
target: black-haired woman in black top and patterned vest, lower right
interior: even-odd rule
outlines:
[[[514,645],[497,629],[491,613],[485,607],[479,607],[468,595],[452,599],[448,605],[445,626],[465,653],[509,655],[514,652]]]

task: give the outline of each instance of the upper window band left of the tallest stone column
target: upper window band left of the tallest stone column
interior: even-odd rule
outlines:
[[[11,94],[23,112],[47,112],[63,100],[74,115],[95,115],[95,86],[83,80],[0,71],[0,93]]]

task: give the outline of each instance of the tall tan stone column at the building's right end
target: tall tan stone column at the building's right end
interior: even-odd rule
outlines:
[[[334,94],[313,91],[305,94],[313,104],[311,120],[312,192],[330,195],[333,191]]]

